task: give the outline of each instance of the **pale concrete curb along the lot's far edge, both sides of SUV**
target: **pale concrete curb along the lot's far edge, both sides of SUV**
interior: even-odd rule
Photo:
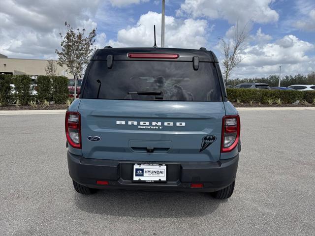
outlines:
[[[315,107],[237,107],[238,111],[315,111]],[[66,110],[0,111],[0,116],[65,114]]]

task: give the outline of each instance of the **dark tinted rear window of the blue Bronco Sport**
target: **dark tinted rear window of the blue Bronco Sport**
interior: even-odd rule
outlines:
[[[162,100],[222,101],[212,62],[199,62],[198,70],[189,61],[114,60],[111,69],[106,60],[91,63],[82,98],[97,98],[99,89],[99,99],[157,100],[128,92],[161,91]]]

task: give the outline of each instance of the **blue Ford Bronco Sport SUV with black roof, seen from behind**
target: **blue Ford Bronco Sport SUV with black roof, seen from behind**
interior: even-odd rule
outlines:
[[[66,112],[65,133],[79,193],[233,193],[240,118],[218,59],[205,48],[96,50]]]

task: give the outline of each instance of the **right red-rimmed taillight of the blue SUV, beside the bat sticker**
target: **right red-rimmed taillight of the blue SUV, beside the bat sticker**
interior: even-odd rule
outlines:
[[[240,116],[225,116],[222,119],[221,152],[233,150],[240,139]]]

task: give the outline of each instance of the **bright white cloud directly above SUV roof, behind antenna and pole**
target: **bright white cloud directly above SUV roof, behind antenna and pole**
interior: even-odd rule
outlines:
[[[119,30],[117,40],[109,40],[114,47],[152,47],[156,25],[157,45],[160,45],[161,14],[149,11],[134,27]],[[165,47],[200,48],[207,44],[206,20],[178,20],[165,16]],[[211,28],[210,28],[211,30]]]

